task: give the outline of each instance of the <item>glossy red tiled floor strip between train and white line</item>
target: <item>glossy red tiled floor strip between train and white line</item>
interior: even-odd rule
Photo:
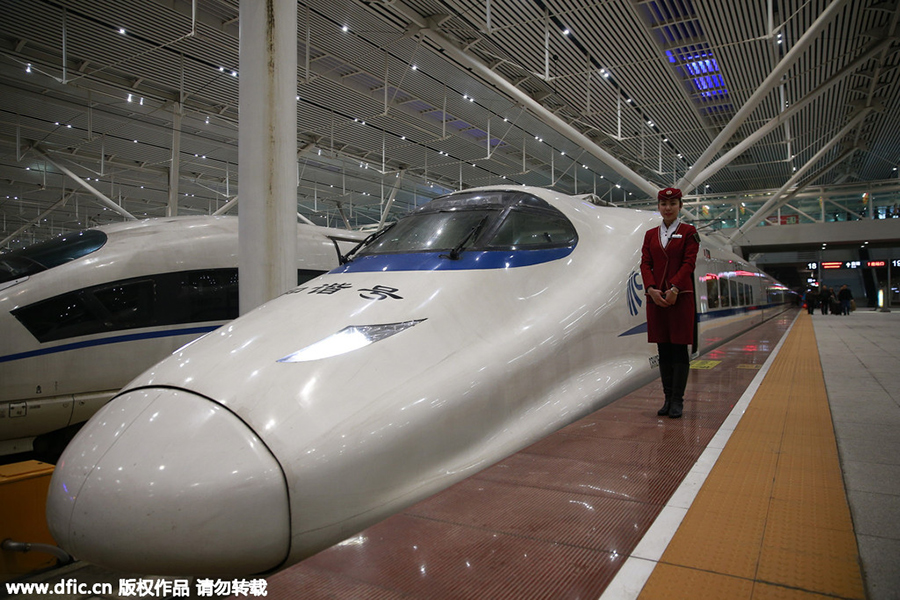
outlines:
[[[597,598],[793,320],[702,356],[685,416],[659,382],[268,578],[268,597]],[[698,365],[701,366],[701,365]]]

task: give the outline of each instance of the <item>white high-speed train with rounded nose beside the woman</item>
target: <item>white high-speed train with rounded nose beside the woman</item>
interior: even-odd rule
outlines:
[[[57,466],[54,538],[120,571],[276,571],[645,385],[658,222],[539,188],[432,200],[132,381]],[[785,308],[709,238],[696,273],[699,352]]]

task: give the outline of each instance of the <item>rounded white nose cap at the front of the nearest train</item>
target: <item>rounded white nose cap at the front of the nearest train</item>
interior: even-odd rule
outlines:
[[[130,573],[239,575],[290,549],[284,474],[222,406],[148,388],[105,406],[72,440],[47,499],[57,543]]]

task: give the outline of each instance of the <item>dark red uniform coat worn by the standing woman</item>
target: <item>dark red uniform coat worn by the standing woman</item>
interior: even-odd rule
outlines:
[[[665,294],[673,285],[678,297],[672,306],[657,306],[647,296],[647,341],[692,344],[694,342],[694,265],[700,249],[697,229],[679,223],[678,229],[663,248],[659,227],[644,234],[641,248],[641,278],[644,289],[655,287]]]

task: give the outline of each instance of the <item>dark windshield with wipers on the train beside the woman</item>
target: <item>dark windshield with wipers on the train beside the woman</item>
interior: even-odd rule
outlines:
[[[525,192],[436,198],[377,236],[360,255],[573,246],[575,227],[558,209]]]

